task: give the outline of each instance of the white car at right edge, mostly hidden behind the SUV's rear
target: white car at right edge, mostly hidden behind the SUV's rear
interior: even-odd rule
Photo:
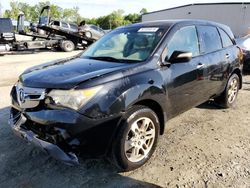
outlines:
[[[244,66],[243,69],[250,71],[250,35],[247,35],[236,40],[237,45],[243,50]]]

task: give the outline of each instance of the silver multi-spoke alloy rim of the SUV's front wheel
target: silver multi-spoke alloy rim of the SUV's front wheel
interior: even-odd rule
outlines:
[[[153,121],[147,117],[137,119],[128,131],[124,152],[130,162],[139,162],[153,147],[156,129]]]

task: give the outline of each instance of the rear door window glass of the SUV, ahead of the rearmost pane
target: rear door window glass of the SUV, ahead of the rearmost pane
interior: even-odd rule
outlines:
[[[202,53],[210,53],[222,48],[220,35],[216,27],[198,26]]]

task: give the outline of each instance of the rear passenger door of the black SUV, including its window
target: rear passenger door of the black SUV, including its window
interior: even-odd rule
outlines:
[[[223,67],[227,64],[227,53],[222,48],[222,42],[217,27],[210,25],[197,26],[201,46],[201,66],[203,68],[206,95],[213,97],[221,88]]]

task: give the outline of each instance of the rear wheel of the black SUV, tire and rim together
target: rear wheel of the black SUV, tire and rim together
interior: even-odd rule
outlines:
[[[217,98],[215,102],[224,108],[235,106],[236,98],[240,88],[240,79],[237,74],[233,74],[228,82],[225,91]]]

